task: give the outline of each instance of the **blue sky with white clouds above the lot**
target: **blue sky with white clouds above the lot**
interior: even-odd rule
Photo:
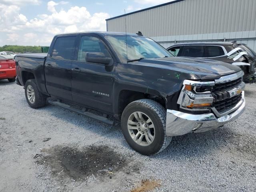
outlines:
[[[55,34],[106,31],[105,19],[171,0],[0,0],[0,46],[49,46]]]

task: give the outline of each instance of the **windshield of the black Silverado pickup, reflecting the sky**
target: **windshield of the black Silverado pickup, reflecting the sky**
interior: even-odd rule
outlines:
[[[126,52],[127,38],[127,52]],[[122,62],[140,60],[142,58],[163,58],[171,57],[166,49],[154,40],[138,36],[106,36],[114,51],[118,54]],[[127,56],[126,56],[127,53]],[[127,57],[127,60],[126,60]]]

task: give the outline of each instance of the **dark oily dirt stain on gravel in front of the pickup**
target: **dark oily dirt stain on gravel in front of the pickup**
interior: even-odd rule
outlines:
[[[66,176],[74,180],[85,180],[88,176],[114,176],[128,164],[120,154],[108,146],[89,146],[82,149],[54,146],[43,149],[46,155],[36,155],[36,162],[50,166],[56,176]]]

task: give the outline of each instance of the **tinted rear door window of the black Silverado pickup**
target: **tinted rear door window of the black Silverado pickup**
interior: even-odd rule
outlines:
[[[52,50],[52,58],[72,60],[75,50],[76,36],[58,37]]]

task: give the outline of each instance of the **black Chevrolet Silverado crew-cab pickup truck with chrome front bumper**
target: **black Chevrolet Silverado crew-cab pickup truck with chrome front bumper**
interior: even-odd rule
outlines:
[[[16,70],[30,107],[51,97],[50,104],[107,124],[120,120],[128,144],[146,155],[164,150],[172,136],[221,127],[245,109],[238,66],[172,57],[141,34],[57,35],[48,54],[18,54]]]

